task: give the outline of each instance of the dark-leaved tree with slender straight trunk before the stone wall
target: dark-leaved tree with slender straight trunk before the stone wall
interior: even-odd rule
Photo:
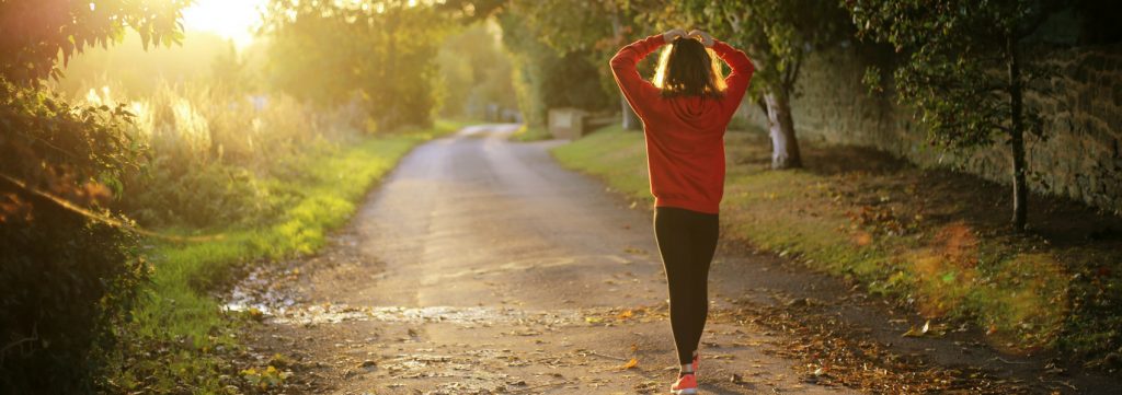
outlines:
[[[846,0],[861,37],[902,54],[893,79],[901,103],[929,126],[931,143],[951,149],[991,145],[1012,151],[1013,227],[1026,227],[1024,134],[1042,135],[1037,109],[1024,105],[1051,74],[1022,56],[1027,38],[1054,7],[1038,0]],[[876,83],[871,69],[866,82]],[[1047,92],[1041,92],[1047,93]]]

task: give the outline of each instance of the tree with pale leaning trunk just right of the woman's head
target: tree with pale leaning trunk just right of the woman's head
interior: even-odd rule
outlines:
[[[808,54],[848,36],[842,8],[820,0],[675,0],[638,7],[655,25],[700,28],[744,48],[756,64],[752,85],[767,113],[772,168],[802,166],[791,98]]]

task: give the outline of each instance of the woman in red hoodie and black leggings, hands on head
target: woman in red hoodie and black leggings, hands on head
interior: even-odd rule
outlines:
[[[654,83],[635,66],[669,44]],[[732,68],[720,77],[715,53]],[[709,263],[717,248],[725,189],[725,128],[754,67],[744,53],[708,34],[673,29],[624,47],[611,72],[643,120],[654,195],[654,235],[670,288],[670,327],[681,364],[674,394],[697,393],[698,344],[709,312]]]

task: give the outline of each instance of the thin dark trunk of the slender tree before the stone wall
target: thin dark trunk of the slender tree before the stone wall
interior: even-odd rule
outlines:
[[[1010,145],[1013,149],[1013,229],[1022,232],[1028,223],[1029,191],[1024,185],[1024,96],[1021,85],[1021,65],[1017,46],[1010,37],[1005,41],[1009,56]]]

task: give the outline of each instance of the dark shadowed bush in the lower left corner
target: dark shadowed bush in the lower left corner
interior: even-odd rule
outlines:
[[[113,332],[129,320],[149,265],[109,225],[29,198],[34,220],[0,224],[0,389],[88,393],[104,372]]]

